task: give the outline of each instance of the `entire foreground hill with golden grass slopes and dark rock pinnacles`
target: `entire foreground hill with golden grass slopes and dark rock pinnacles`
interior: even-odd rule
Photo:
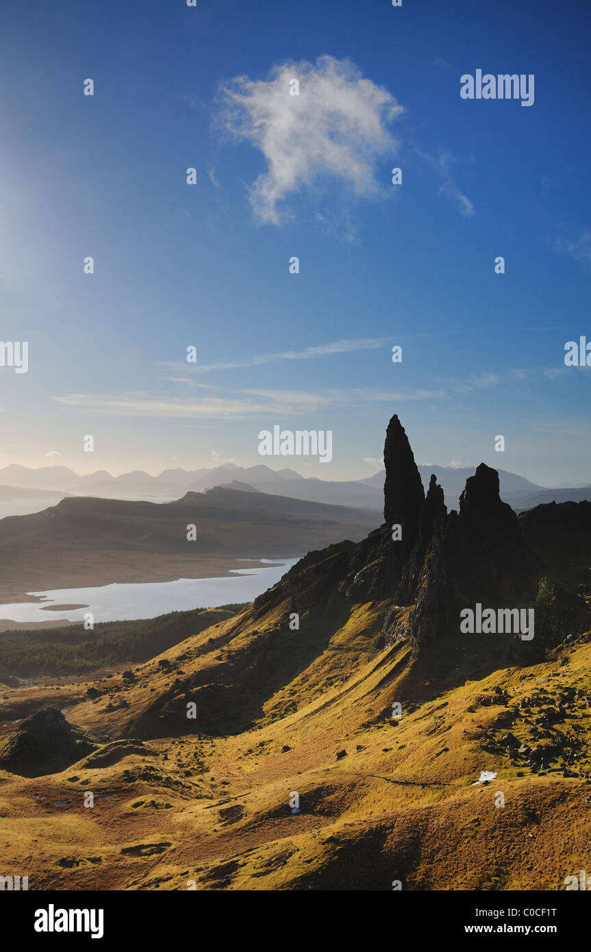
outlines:
[[[588,868],[591,507],[518,520],[479,466],[447,514],[396,417],[384,458],[404,541],[388,519],[308,552],[125,670],[5,681],[14,875],[41,890],[553,891]],[[535,637],[462,632],[470,600],[533,602]]]

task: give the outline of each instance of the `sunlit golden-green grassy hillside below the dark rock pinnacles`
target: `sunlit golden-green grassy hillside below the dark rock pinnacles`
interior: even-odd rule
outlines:
[[[478,636],[377,648],[384,605],[318,605],[300,631],[288,608],[248,608],[92,697],[5,693],[6,724],[63,705],[97,744],[49,776],[0,763],[6,862],[30,888],[555,890],[586,868],[589,634],[519,668]]]

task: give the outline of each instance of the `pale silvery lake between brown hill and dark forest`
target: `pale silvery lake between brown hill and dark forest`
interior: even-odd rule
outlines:
[[[251,562],[238,559],[238,562]],[[43,603],[21,602],[0,605],[0,619],[12,622],[82,622],[92,612],[94,623],[128,622],[137,618],[155,618],[168,611],[189,608],[215,608],[232,602],[252,602],[257,595],[275,585],[299,559],[258,559],[260,565],[232,568],[231,574],[214,579],[176,579],[174,582],[137,585],[101,585],[96,588],[56,588],[46,592],[28,592],[44,598]],[[51,605],[84,605],[79,608],[48,610]]]

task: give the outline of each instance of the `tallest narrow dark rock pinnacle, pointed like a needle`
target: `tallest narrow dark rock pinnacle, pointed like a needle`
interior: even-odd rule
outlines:
[[[396,414],[385,431],[384,523],[403,526],[403,546],[412,550],[424,503],[421,474]]]

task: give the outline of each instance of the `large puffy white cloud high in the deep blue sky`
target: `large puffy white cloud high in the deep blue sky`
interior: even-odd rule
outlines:
[[[289,94],[292,79],[299,95]],[[250,188],[259,221],[279,224],[278,203],[324,175],[358,195],[379,192],[376,160],[393,159],[397,143],[387,124],[404,109],[350,61],[320,56],[315,64],[276,66],[266,80],[237,76],[221,98],[222,125],[266,158],[266,172]]]

